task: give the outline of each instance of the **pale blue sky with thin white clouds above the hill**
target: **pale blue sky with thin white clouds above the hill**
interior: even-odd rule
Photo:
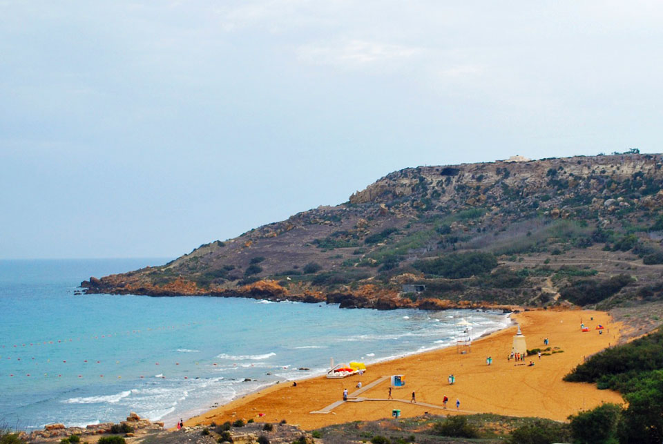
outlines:
[[[402,168],[662,151],[663,3],[0,0],[0,258],[175,258]]]

